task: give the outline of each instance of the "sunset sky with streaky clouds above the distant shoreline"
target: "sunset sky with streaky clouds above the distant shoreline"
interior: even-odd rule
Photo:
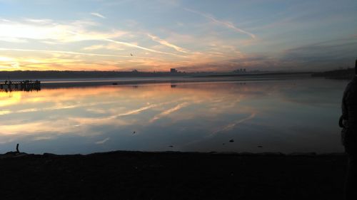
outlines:
[[[0,70],[331,70],[356,0],[0,0]]]

